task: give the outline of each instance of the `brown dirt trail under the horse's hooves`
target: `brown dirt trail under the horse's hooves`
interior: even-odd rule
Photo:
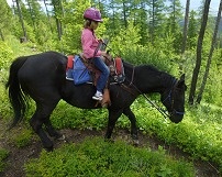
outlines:
[[[1,177],[24,177],[24,170],[23,165],[31,158],[36,158],[40,156],[40,153],[43,148],[40,140],[37,136],[33,136],[33,141],[29,146],[25,146],[23,148],[18,148],[13,145],[13,143],[10,142],[10,132],[5,133],[4,123],[2,119],[0,118],[0,148],[7,148],[10,151],[9,157],[4,161],[8,165],[3,173],[0,173]],[[22,129],[22,128],[16,128]],[[63,133],[66,136],[66,142],[60,141],[55,143],[55,148],[58,148],[64,143],[80,143],[86,137],[96,137],[100,136],[103,137],[104,131],[95,131],[95,130],[70,130],[65,129],[60,130],[60,133]],[[140,146],[149,146],[153,151],[156,151],[158,148],[158,145],[162,145],[165,150],[167,150],[167,154],[174,156],[175,158],[184,158],[188,162],[192,162],[191,157],[188,153],[184,153],[179,148],[177,148],[174,145],[166,145],[164,142],[149,137],[148,135],[145,135],[143,133],[138,133],[140,137]],[[115,129],[113,133],[114,140],[123,140],[125,142],[131,141],[130,133],[127,130],[121,130]],[[215,165],[212,165],[208,162],[202,161],[193,161],[197,175],[196,177],[220,177],[220,175],[217,172]]]

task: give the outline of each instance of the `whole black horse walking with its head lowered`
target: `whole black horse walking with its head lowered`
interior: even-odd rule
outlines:
[[[24,117],[27,97],[36,103],[36,110],[30,120],[34,132],[42,140],[43,146],[52,151],[53,142],[46,135],[60,137],[51,124],[51,113],[60,99],[67,103],[82,108],[95,109],[96,101],[92,96],[96,88],[90,84],[75,86],[66,79],[67,57],[60,53],[46,52],[42,54],[16,58],[10,68],[7,82],[9,98],[14,110],[12,126]],[[178,123],[185,112],[185,76],[178,80],[167,73],[159,71],[148,65],[133,66],[124,63],[125,81],[122,85],[110,85],[111,106],[106,139],[111,139],[116,120],[123,113],[131,121],[131,135],[137,140],[136,120],[130,106],[142,93],[159,92],[160,100],[166,107],[171,122]]]

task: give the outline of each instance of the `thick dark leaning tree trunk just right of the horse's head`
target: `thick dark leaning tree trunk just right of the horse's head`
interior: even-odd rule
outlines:
[[[192,81],[191,81],[191,87],[190,87],[189,104],[193,104],[193,100],[195,100],[198,75],[199,75],[199,71],[200,71],[201,59],[202,59],[202,41],[203,41],[206,26],[207,26],[207,22],[208,22],[208,13],[209,13],[209,8],[210,8],[210,1],[211,0],[206,0],[206,2],[204,2],[202,22],[201,22],[201,27],[200,27],[199,37],[198,37],[198,45],[197,45],[196,67],[195,67],[193,73],[192,73]]]

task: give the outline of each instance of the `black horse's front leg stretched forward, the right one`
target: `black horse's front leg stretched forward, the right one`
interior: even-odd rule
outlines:
[[[137,135],[137,128],[136,128],[136,119],[134,113],[131,111],[130,107],[123,110],[123,113],[130,119],[131,121],[131,136],[133,140],[134,145],[138,145],[138,135]]]

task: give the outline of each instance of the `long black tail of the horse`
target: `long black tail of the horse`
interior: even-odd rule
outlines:
[[[23,119],[27,107],[26,96],[22,91],[18,78],[18,73],[20,68],[23,66],[23,64],[26,62],[26,59],[27,57],[19,57],[12,63],[10,67],[9,80],[5,85],[5,87],[9,88],[9,99],[14,111],[14,120],[10,129],[15,126],[16,123]]]

